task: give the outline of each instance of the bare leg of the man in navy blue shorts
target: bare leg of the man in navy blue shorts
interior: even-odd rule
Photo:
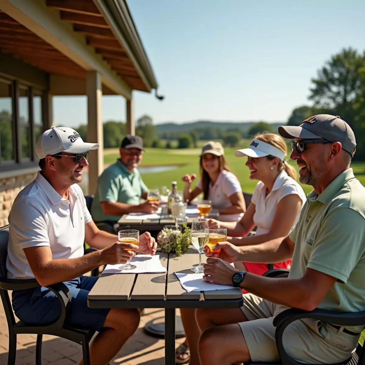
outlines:
[[[105,318],[103,328],[90,345],[91,365],[106,365],[138,328],[138,309],[112,308]],[[83,361],[79,362],[82,365]]]

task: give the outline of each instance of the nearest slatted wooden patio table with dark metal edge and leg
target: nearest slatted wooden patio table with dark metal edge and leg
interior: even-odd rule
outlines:
[[[165,364],[175,364],[176,308],[238,308],[243,304],[240,289],[187,293],[174,272],[191,273],[197,251],[183,255],[159,253],[166,274],[102,274],[88,295],[90,308],[165,308]],[[202,262],[205,256],[202,255]]]

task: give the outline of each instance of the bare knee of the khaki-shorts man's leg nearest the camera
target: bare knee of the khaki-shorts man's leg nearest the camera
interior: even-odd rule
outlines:
[[[231,365],[250,360],[250,353],[241,328],[225,324],[205,330],[199,340],[201,365]]]

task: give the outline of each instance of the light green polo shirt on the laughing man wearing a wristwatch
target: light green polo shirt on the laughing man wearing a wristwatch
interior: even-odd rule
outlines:
[[[365,310],[365,188],[352,169],[339,174],[317,196],[307,195],[297,225],[289,277],[301,278],[306,268],[337,278],[318,308]],[[364,326],[346,327],[361,332]]]

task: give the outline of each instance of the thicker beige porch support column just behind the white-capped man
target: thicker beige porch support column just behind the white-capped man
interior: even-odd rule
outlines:
[[[95,193],[96,181],[104,168],[103,121],[101,120],[101,75],[88,71],[86,77],[88,97],[87,142],[99,143],[97,150],[89,152],[89,195]]]

